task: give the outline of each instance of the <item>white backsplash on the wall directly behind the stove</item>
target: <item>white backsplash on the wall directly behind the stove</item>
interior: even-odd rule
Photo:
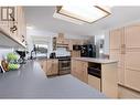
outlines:
[[[66,50],[66,48],[57,48],[56,51],[56,56],[71,56],[71,52]]]

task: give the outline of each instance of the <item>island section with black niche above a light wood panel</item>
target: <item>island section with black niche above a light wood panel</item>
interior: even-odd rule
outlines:
[[[88,85],[101,92],[101,70],[95,66],[88,67]]]

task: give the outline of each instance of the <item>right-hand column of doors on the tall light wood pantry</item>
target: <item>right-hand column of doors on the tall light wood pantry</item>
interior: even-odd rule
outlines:
[[[125,85],[140,91],[140,25],[129,25],[125,28]]]

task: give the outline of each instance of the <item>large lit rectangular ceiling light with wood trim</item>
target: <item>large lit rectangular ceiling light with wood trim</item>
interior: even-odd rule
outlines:
[[[85,22],[93,23],[109,15],[110,10],[107,7],[99,6],[61,6],[56,7],[56,13],[61,15],[61,19],[65,18],[64,20],[68,20],[71,22],[77,21],[79,24],[83,24]]]

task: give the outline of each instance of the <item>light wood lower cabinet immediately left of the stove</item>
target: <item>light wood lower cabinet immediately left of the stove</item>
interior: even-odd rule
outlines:
[[[58,60],[57,59],[49,59],[39,61],[42,70],[45,72],[47,76],[58,74]]]

